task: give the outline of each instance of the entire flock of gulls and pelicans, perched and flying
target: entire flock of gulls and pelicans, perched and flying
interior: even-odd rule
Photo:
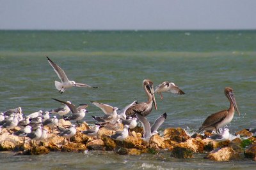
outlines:
[[[61,82],[55,81],[55,87],[61,94],[71,87],[97,88],[85,83],[76,83],[75,81],[68,80],[65,72],[60,66],[55,64],[51,59],[49,59],[49,57],[47,57],[47,60],[58,75],[58,78],[60,78]],[[160,94],[161,99],[163,99],[163,95],[161,94],[162,92],[171,92],[173,94],[185,93],[180,90],[177,85],[168,81],[164,81],[158,85],[156,89],[154,89],[153,82],[151,80],[143,80],[143,89],[148,100],[141,103],[133,101],[131,104],[125,106],[125,108],[122,110],[110,106],[109,104],[91,101],[93,105],[97,106],[103,111],[104,116],[92,116],[96,121],[95,126],[92,127],[92,129],[83,131],[83,134],[86,136],[97,137],[98,131],[101,127],[106,127],[107,129],[111,129],[113,131],[124,127],[123,131],[116,131],[115,134],[110,136],[110,138],[115,140],[123,141],[129,136],[129,131],[137,126],[137,121],[140,121],[143,126],[142,139],[149,142],[150,138],[154,136],[154,134],[158,133],[157,129],[159,129],[167,117],[167,113],[163,113],[156,119],[154,124],[150,125],[148,122],[146,117],[151,113],[153,106],[157,110],[155,94]],[[235,110],[240,115],[232,88],[225,88],[225,96],[230,102],[228,110],[213,113],[205,119],[204,123],[198,130],[198,132],[209,130],[216,131],[215,135],[209,137],[209,139],[215,141],[225,141],[228,139],[229,130],[227,128],[221,128],[225,127],[225,125],[232,121]],[[0,113],[0,128],[6,128],[10,133],[12,133],[12,129],[15,127],[20,127],[21,129],[19,131],[13,132],[12,134],[23,138],[24,142],[26,142],[29,140],[40,141],[47,139],[48,132],[44,128],[46,126],[51,128],[51,132],[53,132],[53,129],[58,129],[58,135],[69,140],[72,136],[76,135],[76,127],[81,124],[80,121],[84,119],[86,113],[88,112],[86,110],[88,105],[79,104],[79,106],[75,106],[70,101],[61,101],[59,99],[54,100],[63,104],[63,106],[51,111],[45,111],[44,113],[42,110],[39,110],[35,113],[27,115],[26,117],[23,117],[22,109],[20,107]],[[70,111],[71,114],[68,115]],[[65,120],[76,121],[76,124],[72,124],[70,127],[60,127],[58,126],[58,118],[56,115],[50,117],[51,114],[59,115]],[[222,130],[221,132],[220,129]]]

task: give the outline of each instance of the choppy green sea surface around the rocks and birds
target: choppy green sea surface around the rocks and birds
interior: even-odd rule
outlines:
[[[154,85],[172,81],[186,92],[183,96],[156,96],[157,110],[148,120],[166,112],[161,127],[182,127],[196,131],[211,113],[225,110],[229,103],[225,87],[234,89],[241,116],[235,113],[228,126],[234,134],[256,126],[256,31],[0,31],[0,111],[22,107],[23,113],[48,111],[61,106],[51,98],[88,103],[84,120],[103,115],[90,101],[122,108],[134,100],[146,101],[142,81]],[[61,66],[70,80],[99,89],[72,88],[59,94],[58,76],[45,56]],[[72,156],[70,156],[72,154]],[[102,155],[101,155],[102,154]],[[156,155],[120,156],[112,152],[50,153],[13,157],[0,153],[1,166],[9,169],[252,169],[255,162],[218,163],[194,159],[173,159]],[[33,161],[31,161],[33,160]],[[64,161],[65,163],[64,163]],[[140,160],[140,161],[138,161]],[[99,164],[97,164],[99,162]],[[3,164],[4,163],[4,164]]]

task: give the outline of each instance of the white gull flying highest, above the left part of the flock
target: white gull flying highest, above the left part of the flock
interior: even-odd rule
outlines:
[[[75,81],[68,80],[65,72],[63,71],[63,69],[61,69],[60,66],[55,64],[51,59],[49,59],[49,57],[47,57],[47,60],[49,64],[51,64],[52,68],[54,69],[54,71],[56,72],[56,74],[61,80],[61,82],[55,81],[55,87],[57,90],[59,90],[61,94],[65,92],[67,88],[70,88],[70,87],[92,87],[90,85],[86,85],[83,83],[76,83]],[[98,88],[98,87],[93,87],[93,88]]]

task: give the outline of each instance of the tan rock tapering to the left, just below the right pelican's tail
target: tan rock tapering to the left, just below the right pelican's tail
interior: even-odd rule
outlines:
[[[175,145],[175,147],[188,148],[192,152],[202,153],[204,151],[204,142],[201,138],[190,138],[185,142],[178,143],[177,145]]]

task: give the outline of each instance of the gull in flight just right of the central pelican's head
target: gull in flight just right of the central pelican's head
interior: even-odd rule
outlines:
[[[171,92],[173,94],[185,94],[182,90],[179,89],[179,87],[177,87],[177,85],[169,81],[164,81],[160,85],[157,85],[155,89],[155,93],[159,93],[161,99],[163,99],[163,95],[161,94],[161,92]]]

